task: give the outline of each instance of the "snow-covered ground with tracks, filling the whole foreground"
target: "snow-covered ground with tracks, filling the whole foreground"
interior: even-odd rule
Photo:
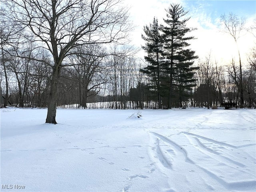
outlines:
[[[46,112],[1,109],[1,191],[256,191],[256,110]]]

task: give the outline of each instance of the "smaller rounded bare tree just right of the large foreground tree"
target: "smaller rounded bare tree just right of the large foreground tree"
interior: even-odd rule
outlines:
[[[78,103],[86,108],[87,98],[100,92],[106,83],[106,50],[98,45],[78,47],[68,57],[67,74],[78,86]]]

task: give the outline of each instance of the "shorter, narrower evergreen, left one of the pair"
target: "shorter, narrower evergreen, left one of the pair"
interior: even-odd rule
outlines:
[[[142,39],[146,41],[145,46],[142,48],[147,52],[145,60],[148,62],[148,66],[141,69],[141,72],[148,74],[151,78],[151,89],[157,94],[158,108],[162,108],[161,104],[161,73],[162,73],[162,52],[163,52],[163,40],[160,35],[158,20],[154,18],[153,23],[148,26],[144,26],[145,36],[142,35]]]

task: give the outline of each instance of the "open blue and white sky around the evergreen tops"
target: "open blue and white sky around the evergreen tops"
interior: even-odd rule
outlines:
[[[227,64],[233,57],[237,56],[236,44],[232,37],[221,32],[219,27],[220,16],[222,14],[233,14],[246,18],[246,27],[253,24],[256,19],[255,0],[124,0],[130,6],[131,20],[136,25],[136,29],[131,34],[132,43],[136,46],[144,44],[141,39],[143,26],[152,23],[154,16],[163,24],[162,18],[166,18],[165,9],[171,3],[180,3],[184,10],[189,10],[191,17],[188,26],[196,27],[193,32],[197,39],[191,42],[191,47],[200,58],[204,58],[210,52],[212,58],[221,64]],[[256,34],[256,31],[254,31]],[[242,60],[246,62],[246,54],[256,46],[256,39],[252,34],[245,32],[239,40]],[[142,55],[145,53],[141,53]]]

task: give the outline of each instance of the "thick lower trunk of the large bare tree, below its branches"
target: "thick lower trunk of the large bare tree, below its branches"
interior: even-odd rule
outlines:
[[[56,108],[57,108],[57,96],[58,96],[58,78],[60,76],[60,67],[53,70],[51,88],[48,100],[48,110],[46,123],[57,124],[56,118]]]

